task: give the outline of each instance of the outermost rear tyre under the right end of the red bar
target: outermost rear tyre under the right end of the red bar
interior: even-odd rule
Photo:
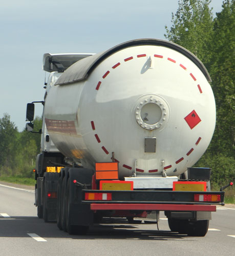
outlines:
[[[209,220],[189,222],[188,236],[205,236],[209,227]]]

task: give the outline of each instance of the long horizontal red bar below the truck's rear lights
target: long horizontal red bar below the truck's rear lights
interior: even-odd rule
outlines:
[[[159,210],[215,212],[216,205],[91,204],[91,210]]]

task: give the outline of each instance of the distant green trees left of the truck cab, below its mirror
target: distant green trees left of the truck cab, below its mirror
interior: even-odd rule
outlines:
[[[34,120],[35,131],[41,129],[42,120]],[[18,132],[10,116],[0,119],[0,176],[34,177],[36,155],[40,152],[40,134],[26,130]]]

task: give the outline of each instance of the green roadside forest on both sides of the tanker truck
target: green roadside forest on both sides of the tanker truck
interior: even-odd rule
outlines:
[[[212,184],[224,185],[235,179],[235,0],[223,2],[213,18],[210,0],[179,0],[172,14],[172,26],[165,38],[193,52],[211,76],[216,99],[217,124],[212,141],[197,167],[212,169]],[[41,119],[34,120],[35,131]],[[0,175],[32,177],[40,135],[18,132],[4,114],[0,119]]]

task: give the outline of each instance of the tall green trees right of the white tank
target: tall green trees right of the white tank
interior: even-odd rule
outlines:
[[[193,52],[205,65],[216,99],[217,122],[197,167],[212,169],[212,184],[235,179],[235,1],[223,1],[213,19],[210,0],[180,0],[165,37]]]

